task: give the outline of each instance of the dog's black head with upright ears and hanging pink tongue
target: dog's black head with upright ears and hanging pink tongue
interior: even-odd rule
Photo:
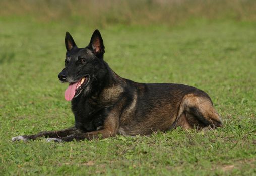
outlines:
[[[70,101],[81,93],[89,94],[106,74],[103,63],[104,45],[100,32],[95,30],[89,45],[78,48],[70,33],[66,33],[65,68],[59,73],[62,82],[68,82],[65,99]]]

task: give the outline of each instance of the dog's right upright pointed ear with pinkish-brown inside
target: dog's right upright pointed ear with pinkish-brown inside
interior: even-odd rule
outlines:
[[[103,54],[105,53],[103,39],[102,39],[98,29],[96,29],[93,32],[89,46],[92,48],[94,54],[99,58],[102,57]]]

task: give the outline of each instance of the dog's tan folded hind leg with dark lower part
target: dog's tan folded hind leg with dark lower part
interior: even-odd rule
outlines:
[[[221,127],[222,121],[214,109],[212,101],[206,96],[187,94],[180,104],[177,126],[183,128]]]

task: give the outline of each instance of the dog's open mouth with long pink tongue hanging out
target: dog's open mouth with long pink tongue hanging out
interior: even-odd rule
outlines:
[[[82,90],[88,85],[89,81],[90,76],[86,75],[82,77],[79,81],[70,83],[69,87],[65,91],[65,99],[67,101],[70,101],[73,98],[77,97],[82,92]]]

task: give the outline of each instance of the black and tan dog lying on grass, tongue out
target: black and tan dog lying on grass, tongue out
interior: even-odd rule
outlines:
[[[95,30],[89,45],[78,48],[66,33],[65,98],[71,101],[75,126],[60,131],[13,137],[12,141],[73,141],[116,135],[149,135],[178,126],[189,129],[221,127],[211,98],[195,87],[173,83],[137,83],[118,76],[103,60],[103,40]]]

